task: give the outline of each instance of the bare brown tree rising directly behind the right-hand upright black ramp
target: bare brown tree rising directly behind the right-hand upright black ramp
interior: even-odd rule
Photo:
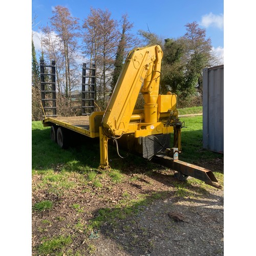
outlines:
[[[97,100],[105,108],[111,91],[112,70],[120,34],[118,23],[111,18],[111,12],[91,8],[91,14],[84,19],[83,41],[90,62],[97,67]]]

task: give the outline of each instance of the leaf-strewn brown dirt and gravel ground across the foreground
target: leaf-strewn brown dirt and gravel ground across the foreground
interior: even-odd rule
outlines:
[[[223,173],[222,159],[197,164]],[[49,255],[223,255],[223,188],[197,182],[184,186],[174,173],[160,169],[148,175],[131,165],[121,183],[113,184],[105,176],[102,187],[86,184],[62,196],[49,193],[49,187],[40,188],[42,176],[34,175],[32,205],[48,199],[54,206],[32,211],[32,255],[40,254],[38,246],[44,238],[60,235],[71,236],[72,243]],[[129,207],[118,207],[124,195],[131,201],[150,200],[137,206],[137,214],[105,220],[88,232],[86,226],[101,209],[119,215],[129,211]],[[83,210],[72,208],[74,203]]]

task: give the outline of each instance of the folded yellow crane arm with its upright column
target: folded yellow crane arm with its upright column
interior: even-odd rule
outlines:
[[[104,130],[111,136],[127,132],[140,91],[145,100],[145,122],[157,122],[162,56],[160,46],[137,48],[127,55],[102,119]],[[152,108],[156,109],[156,115],[153,118],[149,114]]]

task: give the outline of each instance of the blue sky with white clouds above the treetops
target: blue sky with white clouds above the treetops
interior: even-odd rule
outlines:
[[[114,19],[120,20],[127,13],[134,24],[133,32],[139,29],[150,29],[163,38],[177,38],[185,34],[187,23],[197,22],[206,29],[207,37],[211,38],[212,46],[219,55],[224,54],[223,31],[223,0],[162,0],[162,1],[115,1],[115,0],[32,0],[32,19],[36,16],[37,26],[33,31],[40,33],[40,26],[49,22],[53,15],[52,8],[56,5],[67,7],[72,16],[80,18],[80,23],[90,13],[90,7],[109,9]],[[36,33],[35,33],[36,35]],[[34,37],[35,46],[38,40]]]

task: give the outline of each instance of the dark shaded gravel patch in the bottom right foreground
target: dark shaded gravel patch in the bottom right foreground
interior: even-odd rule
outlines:
[[[93,245],[95,255],[197,255],[201,248],[202,255],[222,255],[222,205],[223,198],[217,195],[188,200],[174,197],[170,191],[150,193],[138,200],[127,198],[122,206],[100,207],[91,212],[86,232],[75,233],[72,250],[87,255],[84,249]],[[81,206],[86,207],[86,202]],[[184,216],[184,222],[176,222],[170,212]],[[211,241],[216,243],[205,246]],[[53,252],[63,254],[66,250]]]

